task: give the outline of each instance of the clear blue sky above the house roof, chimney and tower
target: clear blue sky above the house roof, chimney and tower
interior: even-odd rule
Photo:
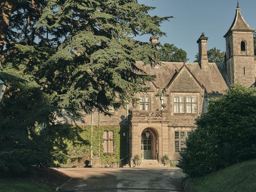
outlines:
[[[230,28],[237,6],[237,0],[138,0],[140,4],[156,7],[150,15],[174,16],[163,22],[161,30],[167,37],[159,41],[174,44],[187,52],[190,62],[198,52],[197,39],[204,32],[208,39],[208,49],[225,49],[223,35]],[[256,0],[239,0],[245,21],[256,29]],[[150,35],[136,37],[148,42]]]

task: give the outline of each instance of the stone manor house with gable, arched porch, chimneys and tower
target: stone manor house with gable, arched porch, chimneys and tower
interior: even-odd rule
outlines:
[[[148,83],[147,93],[137,94],[137,105],[127,104],[126,109],[109,111],[113,116],[95,112],[81,119],[70,118],[63,111],[59,124],[77,125],[115,125],[126,126],[127,155],[130,166],[133,157],[139,155],[144,161],[158,161],[168,155],[171,162],[179,157],[185,147],[184,141],[195,130],[195,118],[206,111],[210,98],[224,94],[224,90],[235,81],[247,86],[255,86],[256,61],[254,57],[254,29],[245,22],[239,6],[231,27],[224,35],[226,40],[226,59],[224,63],[209,63],[207,40],[204,33],[197,40],[199,63],[162,62],[151,68],[138,61],[137,66],[155,81]],[[151,37],[157,42],[158,37]],[[115,151],[113,133],[105,131],[102,135],[103,149],[106,153]]]

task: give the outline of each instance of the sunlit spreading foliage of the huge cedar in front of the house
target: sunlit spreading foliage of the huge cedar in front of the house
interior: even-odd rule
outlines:
[[[153,77],[135,66],[132,53],[141,42],[131,37],[165,35],[159,27],[171,17],[150,16],[154,7],[137,0],[13,4],[16,12],[7,29],[6,50],[0,52],[2,67],[9,63],[15,68],[22,63],[31,80],[46,94],[54,95],[52,105],[74,116],[95,108],[108,114],[110,105],[117,109],[126,101],[135,102],[134,94],[147,90],[143,85]],[[154,52],[155,46],[147,48]],[[159,64],[155,57],[141,59],[154,66]]]

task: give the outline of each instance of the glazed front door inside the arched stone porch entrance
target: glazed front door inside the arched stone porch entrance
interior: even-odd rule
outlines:
[[[141,155],[142,159],[152,159],[152,137],[147,138],[145,133],[141,137]]]

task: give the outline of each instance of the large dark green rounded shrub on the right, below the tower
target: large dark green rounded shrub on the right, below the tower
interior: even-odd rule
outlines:
[[[186,140],[179,167],[190,177],[205,175],[237,161],[256,157],[256,92],[234,84],[210,100],[208,112]]]

